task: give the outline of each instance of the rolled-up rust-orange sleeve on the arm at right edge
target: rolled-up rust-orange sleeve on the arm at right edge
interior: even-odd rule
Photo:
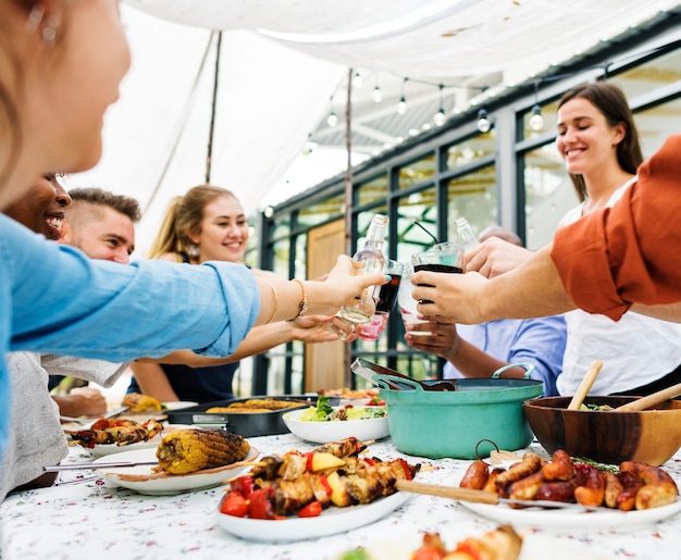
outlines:
[[[590,313],[618,320],[634,302],[681,301],[681,135],[641,165],[612,208],[560,228],[552,259]]]

